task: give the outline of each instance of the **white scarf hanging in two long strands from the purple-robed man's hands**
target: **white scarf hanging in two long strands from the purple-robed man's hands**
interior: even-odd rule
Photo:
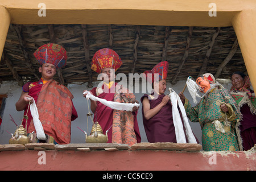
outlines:
[[[193,132],[191,130],[191,127],[188,123],[188,117],[187,114],[185,112],[185,108],[183,106],[183,103],[180,100],[180,97],[178,94],[176,94],[174,92],[174,90],[172,90],[171,88],[169,88],[170,90],[170,100],[172,102],[172,117],[174,119],[174,127],[175,127],[175,135],[176,135],[176,140],[177,143],[187,143],[185,135],[188,138],[188,143],[197,143],[196,142],[196,138],[193,135]],[[181,111],[181,115],[184,121],[184,126],[185,126],[185,133],[183,130],[183,124],[181,122],[181,117],[180,117],[180,113],[179,110],[177,108],[177,106],[179,105],[180,107],[180,111]]]

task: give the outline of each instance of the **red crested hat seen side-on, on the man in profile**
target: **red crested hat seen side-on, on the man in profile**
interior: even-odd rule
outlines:
[[[156,64],[155,67],[151,70],[144,71],[146,79],[148,82],[154,82],[154,74],[159,74],[159,80],[166,80],[168,73],[169,64],[167,61],[161,61]]]

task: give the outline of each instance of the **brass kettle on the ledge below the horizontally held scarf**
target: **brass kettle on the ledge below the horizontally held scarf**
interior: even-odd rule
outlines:
[[[108,132],[104,135],[100,124],[98,122],[94,122],[90,135],[87,136],[85,133],[85,141],[86,143],[106,143],[108,142]]]

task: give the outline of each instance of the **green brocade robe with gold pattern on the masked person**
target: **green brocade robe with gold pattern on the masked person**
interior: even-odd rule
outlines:
[[[228,106],[226,114],[220,109],[221,104]],[[234,126],[240,121],[241,114],[227,89],[217,86],[205,94],[195,107],[187,99],[184,107],[188,118],[200,123],[204,151],[239,150]],[[215,121],[220,121],[216,123],[221,123],[222,130],[218,127],[220,125],[214,125]]]

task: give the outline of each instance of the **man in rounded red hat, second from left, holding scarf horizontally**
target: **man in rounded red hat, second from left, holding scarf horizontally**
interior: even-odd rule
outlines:
[[[121,65],[121,58],[113,49],[98,50],[92,59],[92,70],[102,75],[104,84],[93,88],[90,93],[107,101],[138,102],[133,93],[115,82],[115,71]],[[134,106],[133,111],[114,110],[101,102],[91,100],[90,108],[94,113],[94,122],[101,125],[104,134],[108,131],[108,143],[125,143],[131,146],[141,142],[137,121],[138,107]]]

